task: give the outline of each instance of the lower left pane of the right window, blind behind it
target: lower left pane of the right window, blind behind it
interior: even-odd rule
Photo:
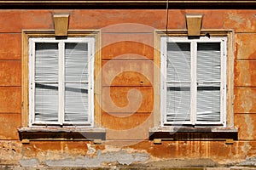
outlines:
[[[189,121],[190,83],[168,83],[166,96],[166,121]]]

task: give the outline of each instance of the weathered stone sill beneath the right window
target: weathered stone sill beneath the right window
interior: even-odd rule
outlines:
[[[153,127],[149,139],[224,141],[238,139],[238,130],[231,127]]]

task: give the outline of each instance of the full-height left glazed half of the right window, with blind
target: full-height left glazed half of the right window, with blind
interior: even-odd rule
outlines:
[[[190,120],[190,43],[168,42],[166,122]]]

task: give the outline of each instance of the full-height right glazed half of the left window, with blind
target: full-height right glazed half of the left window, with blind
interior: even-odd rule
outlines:
[[[65,43],[64,122],[88,122],[88,59],[87,43]]]

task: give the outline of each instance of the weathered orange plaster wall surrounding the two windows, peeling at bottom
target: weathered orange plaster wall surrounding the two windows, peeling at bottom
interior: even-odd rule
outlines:
[[[128,104],[127,91],[136,88],[143,95],[142,105],[132,115],[122,111],[116,114],[111,107],[108,112],[113,114],[102,111],[102,127],[108,128],[107,141],[102,144],[88,141],[32,141],[21,144],[17,133],[22,118],[21,30],[54,29],[52,14],[63,13],[70,14],[69,29],[102,29],[103,77],[131,69],[117,74],[112,82],[103,79],[102,91],[110,89],[114,104],[124,107]],[[135,162],[151,165],[152,161],[157,166],[157,162],[169,160],[162,165],[171,166],[172,159],[181,159],[185,160],[183,165],[214,167],[246,159],[250,161],[248,158],[256,156],[255,10],[170,9],[168,28],[185,29],[185,14],[203,14],[204,29],[235,31],[234,116],[235,127],[239,129],[238,141],[234,144],[224,144],[224,141],[153,144],[147,140],[148,127],[152,127],[154,121],[151,114],[154,108],[153,30],[166,29],[166,10],[1,10],[0,164],[97,167]],[[104,105],[108,96],[102,96],[102,99]]]

